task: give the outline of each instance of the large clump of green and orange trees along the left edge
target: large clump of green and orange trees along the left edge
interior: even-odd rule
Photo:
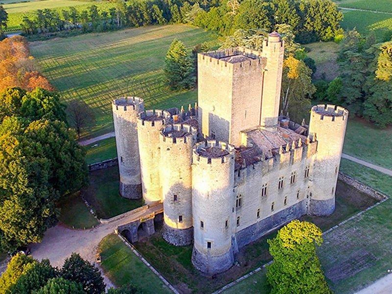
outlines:
[[[87,181],[84,150],[65,109],[25,38],[1,41],[0,252],[40,242],[57,222],[59,197]]]

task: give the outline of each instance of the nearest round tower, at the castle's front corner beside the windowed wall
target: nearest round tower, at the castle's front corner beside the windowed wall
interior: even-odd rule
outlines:
[[[208,274],[228,270],[234,262],[234,164],[231,145],[207,141],[194,147],[192,263]]]

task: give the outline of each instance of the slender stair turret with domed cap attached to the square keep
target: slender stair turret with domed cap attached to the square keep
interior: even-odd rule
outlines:
[[[268,35],[263,42],[262,56],[267,59],[263,78],[263,98],[261,101],[260,125],[263,129],[275,132],[278,124],[284,41],[277,32]]]

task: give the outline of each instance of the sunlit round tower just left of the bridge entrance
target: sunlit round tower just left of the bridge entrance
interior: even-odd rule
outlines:
[[[162,200],[159,179],[159,132],[170,118],[164,110],[147,110],[139,114],[137,130],[139,139],[140,170],[143,199],[146,204]]]

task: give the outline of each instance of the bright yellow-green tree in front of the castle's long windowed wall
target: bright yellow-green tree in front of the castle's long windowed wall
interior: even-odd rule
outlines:
[[[322,232],[313,223],[294,220],[268,240],[273,262],[267,267],[271,293],[330,294],[321,270],[316,245]]]

